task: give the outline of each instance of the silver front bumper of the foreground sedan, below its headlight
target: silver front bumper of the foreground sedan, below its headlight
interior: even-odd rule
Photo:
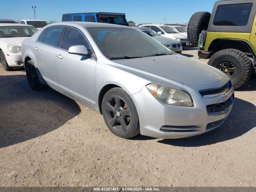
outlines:
[[[154,138],[176,139],[203,134],[219,127],[232,109],[233,87],[226,94],[213,98],[204,98],[198,91],[189,91],[194,107],[162,104],[150,94],[146,87],[133,94],[140,119],[140,134]],[[206,106],[222,103],[229,98],[232,98],[232,102],[224,113],[208,114]]]

